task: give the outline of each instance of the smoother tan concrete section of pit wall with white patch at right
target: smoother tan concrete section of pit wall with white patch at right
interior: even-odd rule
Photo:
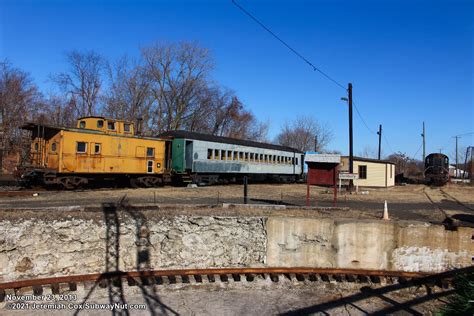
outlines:
[[[269,218],[268,266],[440,272],[470,266],[474,229],[373,220]]]

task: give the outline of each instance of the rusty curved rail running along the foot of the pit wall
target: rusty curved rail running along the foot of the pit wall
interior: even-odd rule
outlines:
[[[69,291],[77,290],[77,283],[96,282],[102,287],[106,286],[104,281],[125,279],[129,285],[137,285],[144,280],[148,284],[160,284],[157,279],[162,281],[163,277],[171,280],[170,283],[177,283],[177,277],[181,282],[190,283],[193,277],[196,283],[202,283],[203,277],[207,277],[211,282],[220,279],[227,282],[229,278],[234,281],[241,281],[242,276],[252,282],[255,276],[268,276],[273,282],[278,282],[278,276],[283,275],[287,278],[293,278],[297,281],[331,281],[336,282],[374,282],[379,283],[381,278],[388,278],[390,282],[407,282],[407,280],[417,280],[430,278],[432,275],[423,272],[400,272],[384,270],[356,270],[356,269],[333,269],[333,268],[224,268],[224,269],[182,269],[182,270],[151,270],[151,271],[130,271],[130,272],[111,272],[95,273],[84,275],[59,276],[51,278],[18,280],[13,282],[0,283],[0,302],[4,301],[6,291],[18,291],[22,288],[31,288],[33,294],[40,295],[43,292],[43,286],[49,286],[53,294],[60,294],[60,284],[68,285]],[[396,279],[396,280],[394,280]],[[150,282],[151,281],[151,282]],[[163,283],[163,282],[161,282]]]

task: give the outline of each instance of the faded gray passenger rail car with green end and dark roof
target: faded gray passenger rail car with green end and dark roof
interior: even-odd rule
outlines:
[[[295,182],[303,175],[302,151],[274,144],[187,131],[158,137],[172,140],[172,169],[184,182]]]

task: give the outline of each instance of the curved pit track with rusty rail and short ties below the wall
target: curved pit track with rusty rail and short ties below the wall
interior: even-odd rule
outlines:
[[[260,278],[269,279],[272,282],[288,279],[295,282],[400,283],[407,286],[429,284],[449,288],[455,273],[458,272],[429,274],[332,268],[225,268],[109,272],[0,283],[0,302],[5,300],[6,295],[18,295],[19,293],[42,295],[44,289],[51,291],[52,294],[76,291],[78,284],[86,282],[93,282],[99,287],[105,288],[110,284],[119,286],[124,282],[129,286],[142,286],[176,283],[253,282]]]

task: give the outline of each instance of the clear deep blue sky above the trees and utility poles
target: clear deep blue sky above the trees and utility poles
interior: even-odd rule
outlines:
[[[355,154],[377,148],[412,156],[426,123],[427,152],[452,154],[452,136],[474,130],[474,1],[249,1],[239,3],[331,77],[352,82]],[[329,145],[348,151],[345,92],[314,72],[230,0],[0,0],[0,58],[28,71],[44,92],[68,50],[108,59],[153,42],[197,41],[212,77],[270,122],[312,115],[330,126]],[[474,145],[473,135],[460,146]],[[421,156],[421,150],[418,152]]]

